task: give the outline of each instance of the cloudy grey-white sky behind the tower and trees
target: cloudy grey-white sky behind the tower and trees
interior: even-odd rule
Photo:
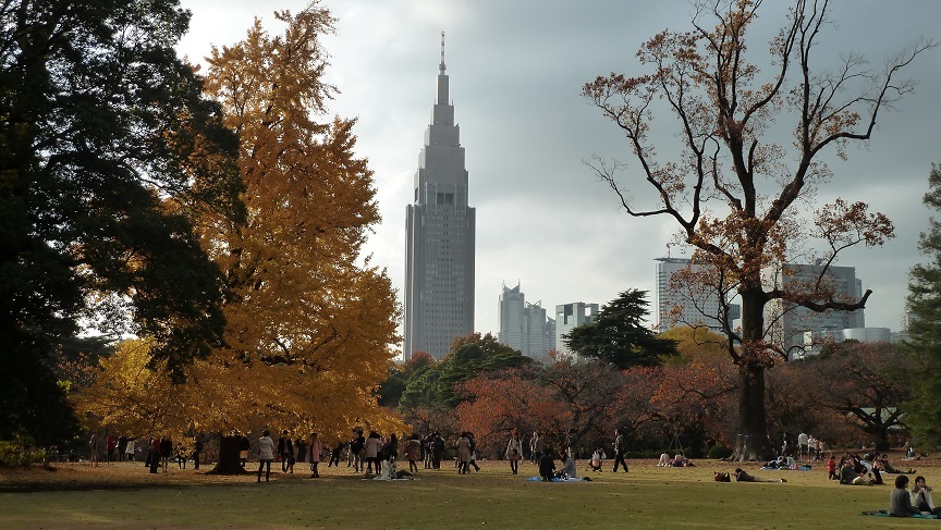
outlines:
[[[784,4],[766,2],[753,28],[753,50],[767,49],[784,23]],[[210,45],[240,40],[255,16],[278,32],[272,11],[296,12],[307,0],[182,0],[193,12],[181,53],[199,61]],[[838,0],[820,63],[840,53],[868,56],[878,70],[917,36],[941,40],[941,2]],[[405,206],[430,120],[445,32],[447,73],[461,126],[477,209],[476,329],[499,330],[502,285],[517,282],[527,301],[548,313],[572,301],[604,304],[627,288],[649,291],[655,258],[667,255],[675,226],[632,218],[585,161],[594,156],[631,163],[619,130],[579,96],[598,75],[646,71],[635,52],[656,33],[689,28],[686,0],[325,0],[338,19],[325,39],[329,82],[341,94],[330,112],[358,116],[358,153],[370,161],[382,214],[367,250],[404,283]],[[885,246],[847,252],[838,264],[856,268],[873,291],[866,324],[897,330],[907,271],[924,258],[918,233],[932,162],[941,162],[941,49],[920,57],[908,74],[919,81],[882,114],[868,145],[847,161],[831,152],[834,172],[819,202],[834,197],[870,204],[895,223]],[[790,125],[789,125],[790,126]],[[669,134],[664,145],[674,143]],[[786,140],[785,140],[786,141]],[[631,173],[625,175],[628,177]],[[636,173],[634,173],[636,176]],[[631,186],[638,200],[639,184]],[[638,202],[640,206],[643,202]],[[674,257],[681,255],[673,250]]]

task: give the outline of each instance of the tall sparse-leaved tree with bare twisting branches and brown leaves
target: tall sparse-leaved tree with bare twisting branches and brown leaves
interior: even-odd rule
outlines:
[[[818,67],[822,32],[831,28],[827,0],[797,0],[789,21],[770,42],[763,73],[749,62],[747,30],[760,1],[694,2],[693,27],[664,30],[637,53],[648,73],[612,73],[585,85],[583,95],[626,136],[638,162],[634,175],[653,192],[640,205],[622,183],[623,162],[597,161],[597,176],[632,217],[665,217],[679,227],[679,242],[693,249],[693,262],[709,274],[699,281],[713,288],[724,309],[716,315],[726,336],[726,354],[737,368],[738,459],[770,456],[765,407],[765,371],[780,362],[785,346],[765,321],[772,301],[811,311],[854,310],[859,299],[840,298],[823,281],[844,249],[881,245],[893,236],[892,223],[870,213],[864,202],[835,200],[804,213],[831,174],[824,153],[846,157],[853,143],[870,139],[880,111],[909,93],[914,83],[901,72],[931,41],[919,40],[871,71],[859,54],[841,57],[832,70]],[[672,120],[659,135],[667,114]],[[789,145],[775,122],[790,120]],[[674,130],[673,126],[679,127]],[[674,134],[679,133],[679,134]],[[672,136],[671,136],[672,135]],[[662,138],[679,141],[675,156]],[[645,196],[639,196],[641,199]],[[818,244],[819,243],[819,244]],[[817,282],[782,286],[765,283],[787,263],[822,263]],[[798,288],[799,287],[799,288]],[[741,328],[728,315],[731,297],[742,305]],[[744,440],[753,441],[744,444]]]

